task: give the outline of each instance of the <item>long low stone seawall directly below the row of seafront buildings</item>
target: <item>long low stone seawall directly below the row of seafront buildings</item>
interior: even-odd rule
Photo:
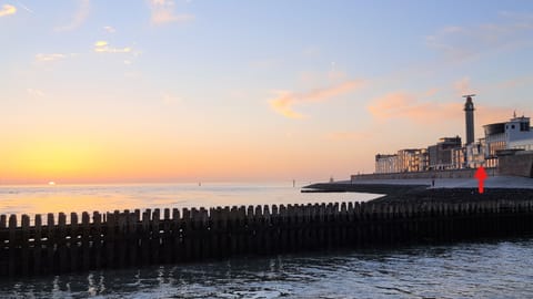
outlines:
[[[411,179],[411,178],[472,178],[476,169],[453,169],[453,171],[431,171],[415,173],[394,173],[394,174],[362,174],[352,175],[351,181],[362,179]],[[485,168],[489,176],[497,174],[496,168]]]

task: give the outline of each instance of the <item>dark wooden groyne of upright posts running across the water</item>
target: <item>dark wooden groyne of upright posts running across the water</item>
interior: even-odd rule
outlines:
[[[56,218],[57,216],[57,218]],[[0,216],[0,277],[533,233],[533,200],[341,203]]]

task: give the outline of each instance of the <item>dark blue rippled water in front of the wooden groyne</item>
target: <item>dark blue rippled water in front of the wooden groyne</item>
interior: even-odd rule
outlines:
[[[533,296],[533,239],[234,258],[0,282],[0,297]]]

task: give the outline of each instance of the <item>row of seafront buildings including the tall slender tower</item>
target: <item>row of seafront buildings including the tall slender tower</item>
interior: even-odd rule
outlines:
[[[484,138],[474,141],[474,103],[471,95],[465,95],[464,116],[466,143],[461,137],[442,137],[428,148],[405,148],[394,155],[375,156],[375,173],[404,173],[438,169],[461,169],[497,167],[499,157],[520,155],[533,151],[533,128],[530,117],[513,115],[509,122],[483,126]],[[520,158],[520,155],[519,158]],[[509,161],[513,159],[507,157]],[[507,167],[509,168],[509,167]]]

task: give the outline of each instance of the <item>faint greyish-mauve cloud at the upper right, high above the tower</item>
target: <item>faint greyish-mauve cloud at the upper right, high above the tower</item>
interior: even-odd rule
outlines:
[[[495,23],[445,27],[425,42],[451,60],[465,60],[490,51],[531,47],[532,38],[531,16],[505,13]]]

